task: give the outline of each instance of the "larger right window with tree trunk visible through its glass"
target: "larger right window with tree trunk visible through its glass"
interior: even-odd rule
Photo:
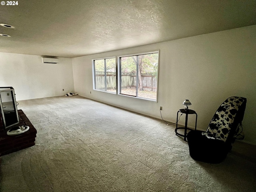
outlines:
[[[119,57],[119,94],[156,100],[158,52]]]

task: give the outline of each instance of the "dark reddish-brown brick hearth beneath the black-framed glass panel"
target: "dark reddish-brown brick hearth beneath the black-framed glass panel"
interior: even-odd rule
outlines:
[[[15,136],[9,136],[5,132],[0,132],[0,156],[28,148],[35,145],[36,129],[28,120],[22,110],[18,110],[20,124],[17,126],[29,126],[29,130],[25,133]],[[3,128],[1,128],[3,130]]]

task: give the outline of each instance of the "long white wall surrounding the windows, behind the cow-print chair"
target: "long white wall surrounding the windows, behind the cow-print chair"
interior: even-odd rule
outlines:
[[[92,59],[160,50],[158,102],[99,92],[92,86]],[[256,26],[94,54],[72,59],[75,92],[114,106],[175,122],[189,99],[206,130],[218,106],[230,96],[247,98],[245,141],[256,144]],[[91,92],[91,94],[90,94]],[[181,117],[184,124],[184,116]],[[189,116],[194,126],[194,116]],[[150,125],[148,125],[150,126]]]

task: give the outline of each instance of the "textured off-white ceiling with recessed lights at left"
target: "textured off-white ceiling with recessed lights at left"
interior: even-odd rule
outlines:
[[[255,25],[256,0],[19,0],[0,23],[0,52],[74,58]]]

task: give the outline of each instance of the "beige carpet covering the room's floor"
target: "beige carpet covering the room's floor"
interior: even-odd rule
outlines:
[[[1,192],[256,191],[246,144],[207,164],[190,158],[174,126],[81,96],[20,101],[18,109],[37,129],[36,145],[1,157]]]

